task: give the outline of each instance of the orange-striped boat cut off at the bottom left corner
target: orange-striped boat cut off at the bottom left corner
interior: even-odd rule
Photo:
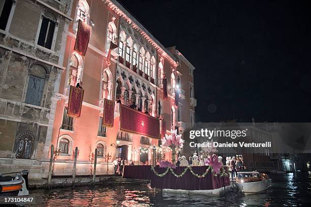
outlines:
[[[10,175],[15,174],[15,175]],[[0,196],[25,196],[28,192],[28,171],[0,174]]]

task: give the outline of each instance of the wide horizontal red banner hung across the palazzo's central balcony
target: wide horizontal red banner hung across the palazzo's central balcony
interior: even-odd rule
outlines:
[[[120,104],[120,130],[160,138],[160,120]]]

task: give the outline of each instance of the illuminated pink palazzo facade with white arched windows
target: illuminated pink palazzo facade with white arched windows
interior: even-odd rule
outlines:
[[[170,129],[194,126],[194,67],[175,47],[165,48],[147,29],[116,1],[74,0],[71,11],[73,21],[67,35],[64,64],[61,74],[58,101],[51,144],[60,149],[54,174],[71,174],[73,152],[78,147],[77,174],[90,173],[89,156],[98,149],[97,173],[107,170],[105,155],[111,162],[122,157],[135,165],[151,163],[150,146],[159,146],[160,139],[143,137],[119,130],[119,104],[135,103],[142,112],[163,117],[167,134]],[[90,40],[85,56],[74,51],[78,20],[91,25]],[[107,54],[110,42],[118,45],[111,52],[110,65]],[[163,99],[163,77],[167,78],[167,100]],[[81,81],[84,97],[80,117],[66,115],[69,87]],[[175,88],[179,88],[178,106],[175,105]],[[114,126],[103,127],[103,100],[115,103]],[[131,120],[138,122],[138,120]],[[190,154],[185,144],[183,153]],[[159,152],[161,153],[161,152]],[[170,160],[170,153],[159,159]]]

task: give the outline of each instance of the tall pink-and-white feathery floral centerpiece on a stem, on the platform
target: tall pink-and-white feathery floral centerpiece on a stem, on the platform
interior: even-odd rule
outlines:
[[[171,130],[171,134],[165,134],[165,137],[161,140],[162,145],[170,147],[172,149],[172,163],[176,163],[176,152],[183,146],[183,139],[181,139],[181,134],[177,135],[177,130]]]

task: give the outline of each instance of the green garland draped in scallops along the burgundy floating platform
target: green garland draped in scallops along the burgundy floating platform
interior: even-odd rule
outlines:
[[[211,170],[211,172],[212,172],[212,174],[213,174],[214,176],[218,176],[218,175],[220,175],[221,177],[223,177],[223,176],[226,176],[226,177],[227,177],[227,176],[228,176],[228,174],[225,172],[224,167],[222,167],[222,170],[221,170],[221,172],[220,172],[219,174],[216,174],[216,173],[214,173],[213,168],[212,168],[211,166],[208,166],[208,168],[206,169],[206,171],[205,171],[203,174],[199,175],[199,174],[197,174],[197,173],[195,173],[195,172],[193,171],[193,169],[192,169],[191,166],[188,166],[188,167],[184,168],[184,170],[183,170],[180,174],[176,174],[176,173],[174,172],[174,170],[173,170],[171,167],[167,167],[165,172],[159,174],[157,171],[155,171],[154,167],[151,166],[151,170],[153,171],[153,173],[154,173],[155,175],[159,176],[159,177],[163,177],[164,175],[166,175],[166,174],[169,172],[169,170],[171,170],[171,173],[172,173],[173,175],[175,175],[176,178],[181,178],[181,177],[186,173],[186,171],[187,171],[188,169],[189,169],[190,172],[191,172],[193,175],[195,175],[197,178],[204,178],[205,175],[208,173],[209,170]]]

